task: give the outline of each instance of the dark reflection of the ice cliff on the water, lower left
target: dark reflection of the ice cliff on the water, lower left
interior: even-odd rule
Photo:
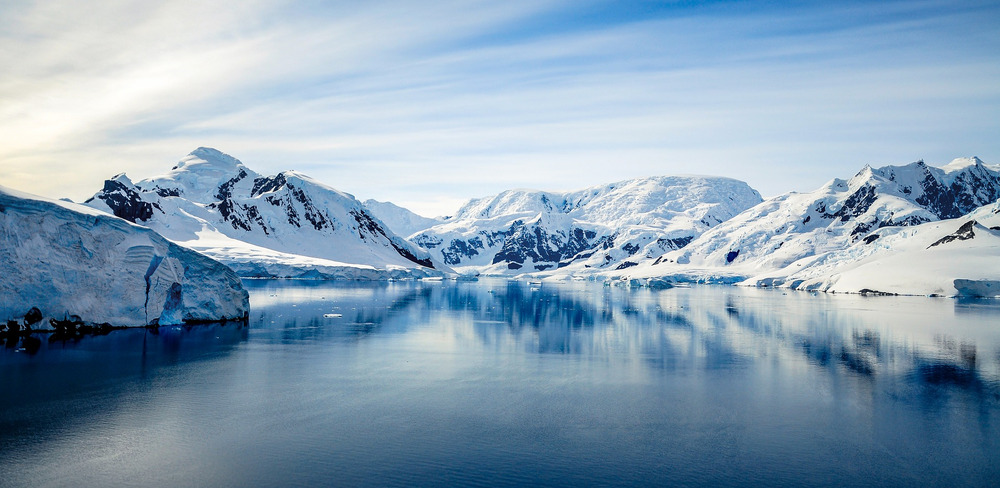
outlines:
[[[230,323],[124,329],[67,340],[48,340],[53,336],[44,334],[21,338],[18,345],[33,339],[37,349],[0,352],[5,391],[0,394],[0,441],[37,435],[39,412],[46,412],[46,430],[106,415],[89,402],[72,399],[109,385],[149,387],[165,371],[223,357],[247,337],[246,326]]]

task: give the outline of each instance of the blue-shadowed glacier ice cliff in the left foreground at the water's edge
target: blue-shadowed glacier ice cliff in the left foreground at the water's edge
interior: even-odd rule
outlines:
[[[226,266],[123,219],[3,187],[0,276],[3,321],[32,307],[41,312],[35,319],[75,315],[116,326],[242,319],[249,311]]]

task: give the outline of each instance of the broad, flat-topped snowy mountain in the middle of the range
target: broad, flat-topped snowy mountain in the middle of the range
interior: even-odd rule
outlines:
[[[471,200],[410,240],[458,270],[626,269],[684,247],[761,201],[742,181],[661,176],[557,193],[510,190]]]

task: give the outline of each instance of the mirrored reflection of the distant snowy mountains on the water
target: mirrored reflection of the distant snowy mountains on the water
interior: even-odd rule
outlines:
[[[909,384],[934,394],[979,391],[991,402],[1000,380],[1000,331],[991,325],[1000,304],[989,300],[504,280],[303,285],[251,285],[261,337],[361,340],[433,328],[491,353],[578,355],[674,372],[804,362],[823,374],[878,381],[899,390],[893,395]]]

